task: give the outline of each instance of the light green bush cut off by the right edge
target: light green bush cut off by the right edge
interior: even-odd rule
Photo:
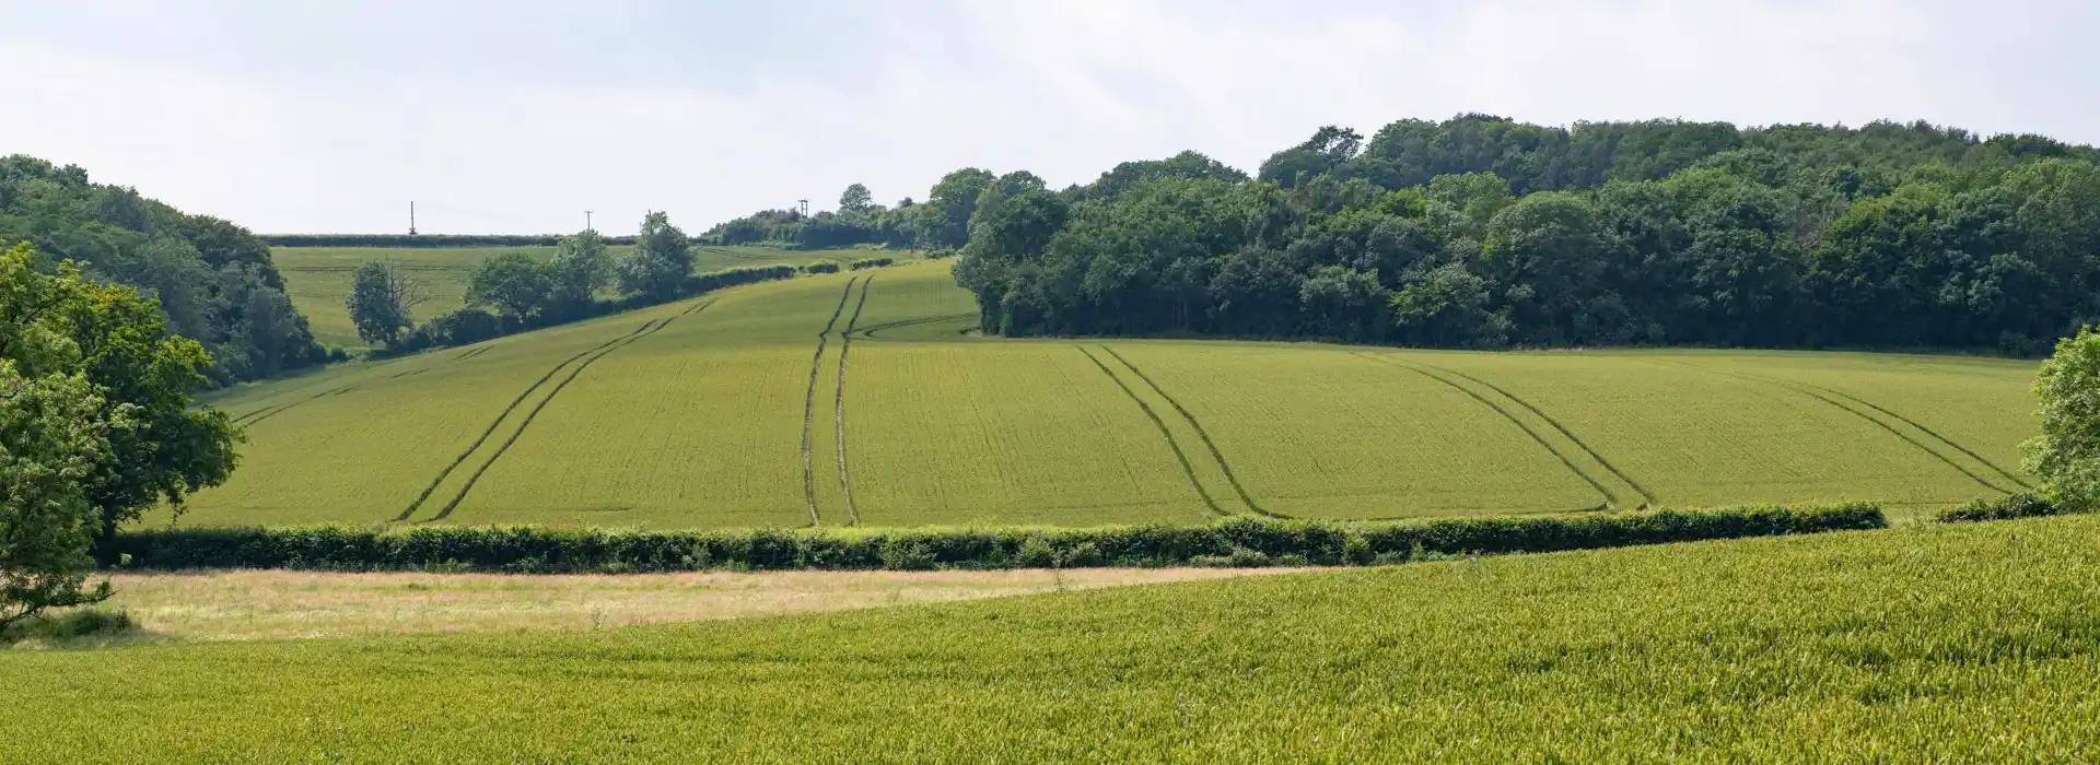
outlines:
[[[2060,505],[2100,503],[2100,329],[2079,329],[2056,344],[2035,379],[2041,436],[2024,444],[2026,469]]]

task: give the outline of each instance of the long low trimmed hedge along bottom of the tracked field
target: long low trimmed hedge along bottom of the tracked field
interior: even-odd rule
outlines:
[[[754,528],[634,532],[540,526],[153,528],[97,555],[124,568],[319,568],[491,572],[924,570],[1079,566],[1365,566],[1449,555],[1544,553],[1884,528],[1873,503],[1630,513],[1312,522],[1228,518],[1205,526]]]

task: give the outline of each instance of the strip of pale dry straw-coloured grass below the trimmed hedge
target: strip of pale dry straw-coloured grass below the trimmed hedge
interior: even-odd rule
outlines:
[[[1073,568],[766,574],[336,574],[227,570],[111,574],[139,635],[122,643],[588,631],[712,618],[981,599],[1275,574],[1289,568]],[[46,643],[48,646],[48,643]],[[21,648],[38,648],[25,643]]]

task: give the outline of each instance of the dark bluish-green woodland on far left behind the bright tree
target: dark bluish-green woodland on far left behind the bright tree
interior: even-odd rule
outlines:
[[[212,384],[326,360],[286,298],[269,245],[248,228],[88,182],[78,166],[10,155],[0,159],[0,249],[23,241],[40,272],[76,260],[86,277],[153,300],[170,331],[210,352]]]

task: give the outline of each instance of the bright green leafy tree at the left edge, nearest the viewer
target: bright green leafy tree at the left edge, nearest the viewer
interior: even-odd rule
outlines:
[[[139,289],[0,252],[0,631],[109,597],[94,541],[227,480],[242,434],[191,409],[208,369]]]

